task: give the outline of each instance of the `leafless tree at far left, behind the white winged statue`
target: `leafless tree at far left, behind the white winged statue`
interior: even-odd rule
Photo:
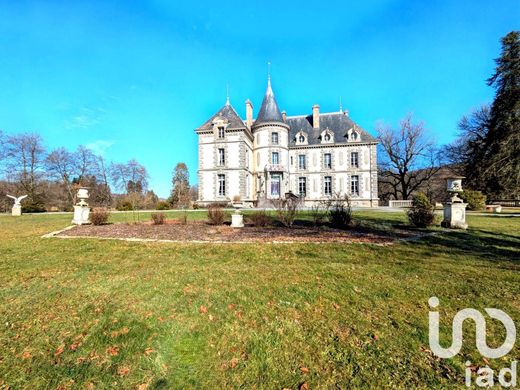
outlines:
[[[29,195],[33,203],[40,203],[42,194],[38,186],[44,175],[45,148],[38,134],[24,133],[7,137],[7,176],[17,185],[20,192]]]

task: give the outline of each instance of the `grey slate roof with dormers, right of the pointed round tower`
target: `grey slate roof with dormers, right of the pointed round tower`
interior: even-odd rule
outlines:
[[[359,134],[356,142],[377,142],[366,130],[362,129],[343,112],[320,113],[320,128],[312,127],[312,115],[287,117],[286,123],[291,128],[289,131],[289,146],[296,145],[296,134],[300,131],[307,133],[309,145],[321,144],[321,133],[329,129],[334,134],[334,144],[346,143],[345,135],[351,128],[355,128]]]

